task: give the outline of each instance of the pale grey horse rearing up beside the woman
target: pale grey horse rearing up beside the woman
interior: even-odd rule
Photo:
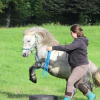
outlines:
[[[45,63],[45,54],[47,46],[57,46],[60,43],[53,37],[53,35],[42,27],[32,27],[26,29],[23,32],[23,57],[29,57],[29,55],[36,49],[36,62],[29,68],[30,80],[34,83],[37,82],[35,75],[35,68],[40,68]],[[41,64],[41,65],[40,65]],[[42,67],[43,68],[43,67]],[[65,79],[66,82],[71,74],[71,67],[68,63],[68,53],[64,51],[51,51],[49,60],[48,72],[61,79]],[[99,68],[89,60],[89,68],[87,73],[83,76],[84,84],[92,91],[93,84],[90,82],[91,75],[93,76],[93,83],[95,86],[100,87],[100,70]],[[73,95],[77,92],[77,89],[73,87]]]

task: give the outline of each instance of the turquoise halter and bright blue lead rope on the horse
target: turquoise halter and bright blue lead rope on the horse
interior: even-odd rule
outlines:
[[[23,48],[23,50],[30,50],[31,52],[34,52],[34,50],[33,50],[32,48],[36,46],[38,40],[39,40],[39,38],[38,38],[37,35],[35,34],[35,43],[34,43],[30,48]],[[39,41],[40,41],[40,40],[39,40]],[[45,63],[44,63],[44,65],[41,65],[40,62],[39,62],[38,57],[36,56],[36,54],[34,54],[36,60],[38,61],[38,63],[39,63],[40,66],[41,66],[40,68],[44,68],[44,69],[43,69],[43,72],[42,72],[42,75],[43,75],[44,78],[46,78],[46,77],[47,77],[47,74],[48,74],[48,66],[49,66],[50,55],[51,55],[51,51],[46,51]],[[34,71],[35,71],[36,69],[40,69],[40,68],[35,68]]]

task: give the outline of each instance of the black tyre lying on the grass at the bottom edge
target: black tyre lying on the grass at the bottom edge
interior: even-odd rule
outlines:
[[[58,100],[54,95],[30,95],[29,100]]]

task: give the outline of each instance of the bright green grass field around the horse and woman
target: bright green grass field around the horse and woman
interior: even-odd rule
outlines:
[[[42,25],[61,44],[73,41],[70,26]],[[63,100],[66,81],[48,74],[43,78],[42,70],[36,71],[37,84],[29,81],[29,67],[34,64],[34,56],[22,57],[23,31],[29,27],[0,28],[0,100],[29,100],[30,95],[56,95]],[[89,38],[88,58],[100,68],[100,26],[82,26]],[[96,100],[100,100],[100,88],[94,88]],[[73,100],[87,100],[77,92]]]

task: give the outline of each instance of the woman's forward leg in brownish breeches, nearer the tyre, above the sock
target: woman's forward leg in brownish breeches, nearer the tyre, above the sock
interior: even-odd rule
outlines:
[[[67,82],[65,97],[72,95],[74,84],[86,74],[88,66],[89,65],[87,64],[87,65],[77,66],[72,69],[72,73]]]

